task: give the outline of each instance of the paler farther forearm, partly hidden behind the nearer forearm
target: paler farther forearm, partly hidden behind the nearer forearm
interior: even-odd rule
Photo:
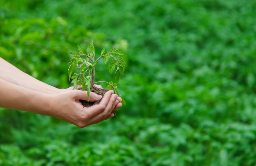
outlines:
[[[0,78],[7,82],[38,92],[54,94],[61,91],[54,86],[45,84],[44,82],[37,80],[36,78],[28,75],[27,73],[24,73],[23,71],[16,68],[2,58],[0,58]]]

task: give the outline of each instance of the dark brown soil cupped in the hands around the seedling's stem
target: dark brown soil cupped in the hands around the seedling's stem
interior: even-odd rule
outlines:
[[[77,88],[78,90],[82,90],[82,86],[81,85],[78,85]],[[85,89],[86,91],[87,89]],[[91,89],[90,89],[91,92],[94,92],[98,95],[101,95],[103,97],[103,95],[108,91],[108,89],[104,89],[104,88],[97,88],[95,86],[93,86]],[[101,98],[102,99],[102,98]],[[88,102],[88,101],[85,101],[85,100],[80,100],[80,102],[83,104],[84,107],[90,107],[90,106],[93,106],[95,104],[99,104],[101,102],[101,100],[97,100],[96,102]]]

